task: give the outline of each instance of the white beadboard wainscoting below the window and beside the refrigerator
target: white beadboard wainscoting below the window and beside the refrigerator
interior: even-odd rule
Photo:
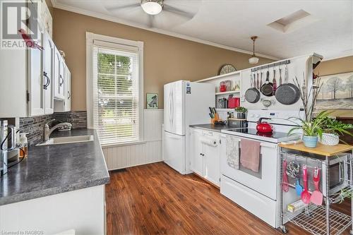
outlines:
[[[163,109],[145,109],[143,116],[143,143],[103,147],[109,170],[162,161]]]

